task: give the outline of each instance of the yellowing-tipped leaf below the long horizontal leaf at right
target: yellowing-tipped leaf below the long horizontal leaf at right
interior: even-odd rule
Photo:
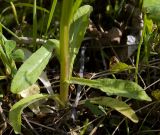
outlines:
[[[135,111],[123,101],[119,101],[118,99],[110,97],[97,97],[89,99],[89,101],[93,104],[99,104],[113,108],[124,116],[128,117],[133,122],[138,122],[138,117],[136,116]]]

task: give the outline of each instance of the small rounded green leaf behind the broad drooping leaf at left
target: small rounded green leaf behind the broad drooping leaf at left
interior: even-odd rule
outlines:
[[[11,54],[13,60],[16,62],[22,62],[24,60],[24,52],[22,49],[17,49]]]

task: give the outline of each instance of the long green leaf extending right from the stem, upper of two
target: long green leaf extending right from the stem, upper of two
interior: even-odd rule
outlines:
[[[71,77],[70,83],[87,85],[92,88],[100,89],[108,95],[117,95],[138,100],[151,101],[143,88],[137,83],[120,79],[97,79],[89,80],[84,78]]]

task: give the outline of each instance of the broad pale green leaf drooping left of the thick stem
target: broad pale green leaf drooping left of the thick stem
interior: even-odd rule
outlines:
[[[33,53],[19,68],[11,83],[11,91],[18,93],[34,84],[46,67],[57,40],[47,42],[45,46]]]

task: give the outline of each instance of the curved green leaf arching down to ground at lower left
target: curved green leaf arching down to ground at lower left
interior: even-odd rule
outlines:
[[[21,133],[21,113],[23,111],[24,108],[26,108],[27,106],[29,106],[30,104],[41,100],[41,99],[45,99],[48,98],[49,95],[43,95],[43,94],[36,94],[36,95],[32,95],[30,97],[27,98],[23,98],[22,100],[20,100],[19,102],[17,102],[16,104],[14,104],[9,112],[9,121],[14,129],[14,132],[16,134]]]

